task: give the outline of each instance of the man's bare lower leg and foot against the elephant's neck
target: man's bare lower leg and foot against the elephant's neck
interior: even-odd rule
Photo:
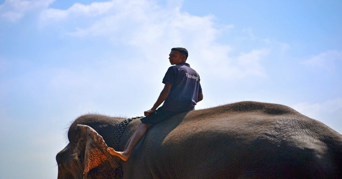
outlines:
[[[120,157],[120,159],[122,159],[123,161],[127,161],[129,156],[131,155],[134,147],[139,143],[139,141],[144,137],[147,129],[150,127],[151,125],[148,124],[144,124],[144,123],[140,123],[138,125],[138,128],[136,129],[136,131],[133,134],[133,137],[131,138],[131,141],[128,144],[128,147],[126,148],[125,151],[123,152],[118,152],[115,151],[113,148],[108,147],[107,151],[112,154],[112,155],[116,155],[118,157]]]

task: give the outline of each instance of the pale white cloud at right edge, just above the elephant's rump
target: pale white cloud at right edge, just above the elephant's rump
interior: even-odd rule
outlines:
[[[301,114],[319,120],[338,132],[342,132],[342,98],[328,100],[323,103],[297,103],[292,106]]]

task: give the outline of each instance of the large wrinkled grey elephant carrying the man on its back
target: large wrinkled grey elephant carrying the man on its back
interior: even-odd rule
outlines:
[[[119,162],[124,178],[342,178],[342,135],[284,105],[246,101],[181,113],[151,127],[126,162],[105,151],[120,121],[77,118],[56,156],[58,178],[114,178]],[[128,124],[119,151],[139,123]]]

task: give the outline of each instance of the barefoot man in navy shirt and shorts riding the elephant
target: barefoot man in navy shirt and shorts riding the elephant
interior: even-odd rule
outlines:
[[[203,99],[199,75],[194,69],[190,68],[188,63],[185,63],[187,57],[188,51],[185,48],[171,49],[169,60],[171,65],[175,66],[171,66],[166,72],[162,81],[165,86],[156,103],[151,109],[144,112],[146,117],[140,119],[141,123],[138,125],[126,150],[118,152],[108,147],[107,151],[110,154],[127,161],[134,147],[144,137],[150,126],[175,114],[193,110],[196,103]],[[157,109],[162,102],[164,104]]]

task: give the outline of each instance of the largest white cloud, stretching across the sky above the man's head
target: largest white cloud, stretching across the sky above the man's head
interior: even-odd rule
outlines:
[[[67,10],[47,9],[41,13],[41,23],[61,23],[70,29],[68,35],[77,38],[105,37],[114,44],[127,45],[139,58],[149,62],[166,59],[171,47],[183,46],[189,50],[189,63],[196,61],[208,76],[222,79],[233,76],[265,76],[260,63],[270,49],[254,49],[238,57],[229,55],[232,47],[217,43],[223,30],[217,29],[212,15],[195,16],[182,12],[180,6],[162,7],[154,1],[97,2],[90,5],[74,4]],[[76,26],[87,17],[87,22]],[[152,53],[153,52],[153,53]],[[206,75],[206,74],[204,74]]]

